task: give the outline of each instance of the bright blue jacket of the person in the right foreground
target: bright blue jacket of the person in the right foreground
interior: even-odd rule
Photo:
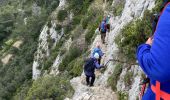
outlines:
[[[161,90],[170,93],[170,4],[160,19],[154,34],[152,46],[142,44],[137,49],[137,59],[150,83],[160,81]],[[155,94],[149,86],[143,100],[155,100]]]

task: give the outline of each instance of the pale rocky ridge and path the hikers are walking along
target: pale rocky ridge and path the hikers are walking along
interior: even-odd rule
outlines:
[[[142,17],[146,9],[152,9],[154,7],[155,0],[126,0],[125,7],[121,16],[112,15],[110,19],[111,32],[107,33],[106,42],[107,45],[102,45],[102,49],[105,52],[105,57],[103,58],[103,63],[106,63],[109,59],[115,59],[117,57],[118,48],[114,43],[115,36],[120,32],[124,25],[129,23],[135,18]],[[100,42],[100,35],[98,35],[91,48],[95,47],[96,42]],[[96,72],[97,78],[95,80],[94,87],[89,88],[85,85],[85,76],[82,73],[80,77],[73,78],[70,82],[75,89],[75,94],[73,100],[116,100],[115,93],[107,85],[107,80],[109,76],[112,75],[116,62],[110,62],[104,73]],[[139,93],[139,83],[141,78],[141,70],[138,66],[131,66],[134,72],[134,82],[129,91],[129,100],[136,100]],[[120,79],[117,85],[117,91],[127,91],[123,77],[127,72],[127,68],[123,69]],[[124,75],[123,75],[124,74]],[[108,98],[109,96],[109,98]]]

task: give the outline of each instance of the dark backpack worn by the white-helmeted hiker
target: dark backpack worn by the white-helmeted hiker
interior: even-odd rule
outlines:
[[[85,72],[94,72],[95,70],[94,61],[95,61],[94,58],[89,58],[85,61],[85,65],[84,65]]]

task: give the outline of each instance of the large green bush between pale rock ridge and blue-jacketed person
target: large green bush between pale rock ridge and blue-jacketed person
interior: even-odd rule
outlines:
[[[135,61],[136,47],[141,43],[145,43],[147,38],[151,36],[151,19],[153,13],[158,12],[160,9],[162,1],[157,0],[156,3],[157,6],[152,11],[146,10],[142,19],[137,19],[127,24],[115,39],[120,52],[128,58],[128,61]]]

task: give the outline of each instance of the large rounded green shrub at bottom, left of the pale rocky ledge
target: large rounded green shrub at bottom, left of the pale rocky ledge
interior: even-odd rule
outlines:
[[[71,97],[73,93],[69,80],[59,76],[45,76],[33,82],[26,100],[63,100],[65,97]]]

